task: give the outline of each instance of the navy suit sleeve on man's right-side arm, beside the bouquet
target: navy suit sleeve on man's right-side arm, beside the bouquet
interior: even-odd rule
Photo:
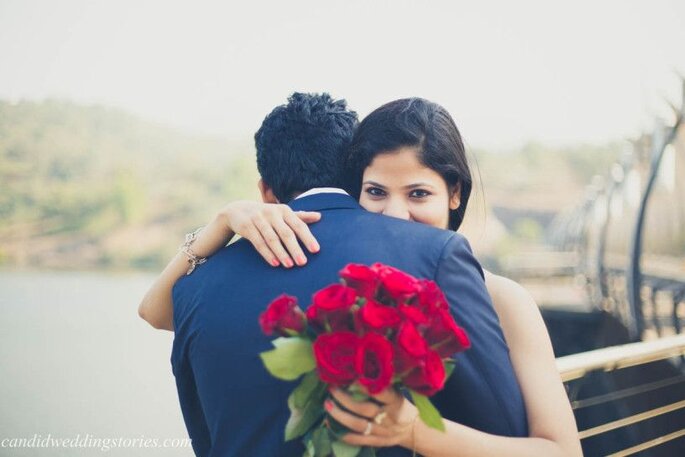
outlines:
[[[525,406],[509,348],[485,287],[483,269],[463,236],[455,234],[445,245],[435,280],[471,340],[471,347],[457,354],[448,380],[452,390],[439,394],[440,401],[447,402],[443,405],[447,410],[453,407],[450,402],[458,401],[454,416],[481,430],[525,434]]]

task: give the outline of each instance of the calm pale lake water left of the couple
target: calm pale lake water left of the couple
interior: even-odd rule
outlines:
[[[173,334],[137,314],[153,279],[0,271],[0,456],[193,455]]]

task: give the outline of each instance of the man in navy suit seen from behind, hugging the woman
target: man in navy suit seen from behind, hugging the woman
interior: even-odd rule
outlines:
[[[263,367],[259,353],[272,346],[258,316],[282,293],[296,296],[306,308],[312,294],[336,282],[348,263],[382,262],[435,278],[450,304],[459,304],[460,322],[470,320],[471,327],[491,336],[479,340],[477,348],[487,352],[487,360],[458,362],[457,376],[465,386],[460,398],[482,404],[483,413],[474,422],[491,433],[527,433],[498,319],[464,238],[364,211],[341,189],[344,151],[355,125],[356,114],[344,101],[327,94],[294,94],[266,117],[255,135],[263,200],[321,213],[320,222],[311,226],[321,251],[305,267],[270,267],[241,240],[174,286],[171,362],[198,456],[302,455],[299,440],[284,442],[287,398],[296,383],[275,379]],[[384,448],[378,455],[411,452]]]

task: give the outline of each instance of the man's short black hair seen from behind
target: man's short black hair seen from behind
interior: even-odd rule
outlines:
[[[257,168],[282,203],[313,187],[342,187],[357,113],[327,93],[295,92],[255,134]]]

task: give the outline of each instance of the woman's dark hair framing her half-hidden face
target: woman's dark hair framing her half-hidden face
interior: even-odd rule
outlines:
[[[450,192],[461,189],[459,208],[450,210],[449,228],[464,220],[471,195],[471,170],[459,129],[447,110],[422,98],[387,103],[366,116],[352,138],[347,158],[347,191],[359,198],[364,169],[380,154],[416,148],[419,161],[436,171]]]

